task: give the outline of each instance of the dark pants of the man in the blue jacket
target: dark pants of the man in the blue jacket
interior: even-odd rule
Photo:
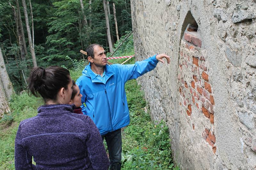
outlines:
[[[110,159],[110,170],[121,169],[121,156],[122,156],[122,136],[121,129],[108,132],[101,135],[102,140],[106,140],[108,145],[108,154]]]

